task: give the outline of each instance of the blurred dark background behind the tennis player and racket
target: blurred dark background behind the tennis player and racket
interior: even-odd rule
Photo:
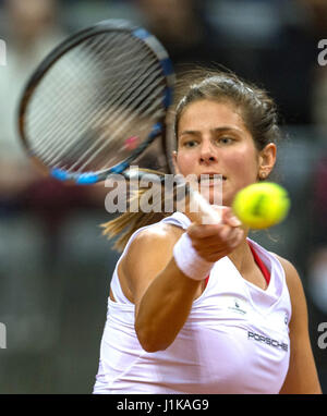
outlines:
[[[106,188],[41,176],[15,132],[21,90],[65,36],[123,17],[158,36],[175,70],[221,64],[276,99],[284,139],[274,179],[291,196],[288,219],[252,235],[298,268],[324,393],[327,348],[326,0],[0,0],[0,393],[90,393],[118,254],[101,236]],[[322,346],[325,346],[323,348]]]

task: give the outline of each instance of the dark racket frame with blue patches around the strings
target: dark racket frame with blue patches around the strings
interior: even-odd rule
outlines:
[[[36,90],[38,84],[44,78],[44,76],[47,74],[47,72],[55,65],[55,63],[66,52],[72,50],[74,47],[80,45],[81,42],[85,41],[86,39],[95,36],[105,34],[107,32],[124,32],[129,33],[135,38],[142,40],[147,45],[149,50],[154,53],[154,56],[157,58],[158,63],[161,66],[162,75],[166,79],[166,88],[165,94],[162,96],[162,105],[165,110],[165,115],[161,120],[159,120],[156,124],[153,125],[152,132],[148,135],[147,139],[144,140],[138,147],[136,147],[131,155],[123,159],[121,162],[114,164],[113,167],[110,167],[108,169],[97,171],[97,172],[68,172],[64,169],[59,168],[49,168],[43,161],[35,155],[35,152],[32,150],[28,137],[25,132],[25,114],[27,112],[28,103],[31,100],[31,97],[33,96],[34,91]],[[148,146],[158,137],[161,135],[162,137],[162,144],[166,151],[166,140],[164,135],[166,134],[166,115],[167,110],[172,103],[172,96],[173,96],[173,85],[174,85],[174,72],[172,68],[172,63],[169,59],[169,56],[164,48],[164,46],[159,42],[159,40],[152,35],[149,32],[147,32],[145,28],[134,25],[130,23],[129,21],[124,20],[107,20],[99,22],[90,27],[87,27],[85,29],[82,29],[77,32],[76,34],[73,34],[65,40],[63,40],[60,45],[58,45],[37,66],[34,74],[28,79],[20,101],[20,106],[17,109],[17,127],[19,127],[19,135],[21,137],[21,142],[23,144],[23,147],[25,151],[27,152],[28,157],[43,170],[50,173],[51,176],[56,178],[60,181],[73,181],[77,184],[94,184],[97,182],[105,181],[108,175],[111,173],[123,173],[130,164],[138,157],[141,156]],[[167,156],[167,155],[166,155]]]

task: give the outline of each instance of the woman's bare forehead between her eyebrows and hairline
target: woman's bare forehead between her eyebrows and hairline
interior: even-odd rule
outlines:
[[[183,130],[203,131],[229,125],[246,131],[240,111],[230,102],[197,100],[191,102],[181,113],[179,133]]]

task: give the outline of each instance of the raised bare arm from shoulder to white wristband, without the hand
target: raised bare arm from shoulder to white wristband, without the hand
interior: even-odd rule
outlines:
[[[181,230],[182,231],[182,230]],[[135,330],[148,352],[165,350],[184,325],[199,281],[189,279],[172,257],[172,235],[140,235],[126,257],[125,274],[135,303]]]

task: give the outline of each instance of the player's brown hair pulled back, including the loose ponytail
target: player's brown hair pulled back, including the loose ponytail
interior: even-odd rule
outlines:
[[[258,151],[267,144],[276,143],[280,138],[277,108],[264,89],[242,81],[231,72],[197,69],[184,74],[177,85],[177,105],[172,112],[172,137],[175,147],[179,122],[184,109],[191,102],[201,99],[213,99],[235,106]],[[158,174],[158,172],[155,173]],[[146,191],[147,188],[140,189],[136,195],[131,196],[130,201],[140,200]],[[164,201],[164,198],[161,200]],[[128,210],[101,227],[105,229],[104,234],[109,238],[120,235],[114,243],[114,248],[121,252],[137,229],[155,223],[168,215],[170,213],[165,213],[164,209],[160,212]]]

